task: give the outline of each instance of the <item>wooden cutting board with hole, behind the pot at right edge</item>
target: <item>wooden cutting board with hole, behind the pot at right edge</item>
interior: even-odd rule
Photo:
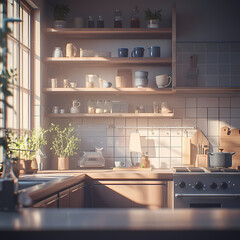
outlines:
[[[219,148],[223,149],[223,152],[235,152],[232,156],[232,167],[237,169],[240,166],[240,129],[222,127]]]

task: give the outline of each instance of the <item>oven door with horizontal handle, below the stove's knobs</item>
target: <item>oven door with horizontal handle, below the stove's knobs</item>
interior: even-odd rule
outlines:
[[[174,208],[240,208],[240,194],[174,194]]]

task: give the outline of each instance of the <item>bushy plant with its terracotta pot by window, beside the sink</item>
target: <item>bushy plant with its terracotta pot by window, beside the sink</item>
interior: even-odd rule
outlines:
[[[47,144],[46,132],[47,130],[43,128],[37,128],[24,132],[20,137],[13,132],[9,134],[11,154],[14,154],[15,158],[20,159],[21,169],[25,173],[37,172],[38,164],[36,157],[37,155],[44,156],[41,147]]]

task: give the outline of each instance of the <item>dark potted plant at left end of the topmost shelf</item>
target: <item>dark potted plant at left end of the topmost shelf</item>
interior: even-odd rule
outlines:
[[[66,18],[70,12],[68,5],[64,3],[56,3],[53,6],[53,17],[54,17],[54,26],[55,28],[64,28],[66,27]]]

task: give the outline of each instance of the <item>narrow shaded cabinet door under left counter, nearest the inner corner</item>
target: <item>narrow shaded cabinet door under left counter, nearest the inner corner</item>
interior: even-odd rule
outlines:
[[[84,184],[78,184],[69,189],[70,194],[70,208],[84,207]]]

